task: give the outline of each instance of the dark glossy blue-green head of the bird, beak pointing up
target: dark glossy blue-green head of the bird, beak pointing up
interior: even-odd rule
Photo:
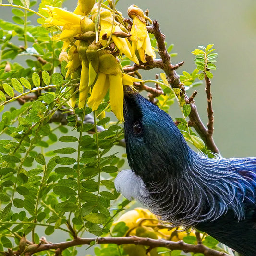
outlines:
[[[136,175],[150,182],[164,171],[174,176],[182,171],[190,149],[166,112],[126,89],[124,120],[127,158]]]

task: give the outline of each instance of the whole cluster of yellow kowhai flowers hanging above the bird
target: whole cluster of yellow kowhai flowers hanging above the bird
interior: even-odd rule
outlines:
[[[74,12],[52,6],[45,10],[49,13],[45,22],[61,28],[52,40],[63,41],[59,60],[67,61],[66,78],[80,76],[78,107],[83,108],[87,102],[97,110],[109,90],[111,110],[123,121],[123,85],[142,80],[124,73],[117,56],[125,55],[135,64],[155,58],[146,29],[146,20],[150,19],[131,5],[131,27],[121,12],[104,4],[99,6],[95,0],[79,0]],[[70,104],[75,106],[75,96]]]

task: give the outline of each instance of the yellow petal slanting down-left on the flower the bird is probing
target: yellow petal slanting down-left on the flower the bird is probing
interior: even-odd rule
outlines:
[[[92,110],[97,110],[99,104],[105,97],[109,88],[109,78],[104,73],[99,73],[95,85],[93,86],[91,96],[88,100],[88,105]]]

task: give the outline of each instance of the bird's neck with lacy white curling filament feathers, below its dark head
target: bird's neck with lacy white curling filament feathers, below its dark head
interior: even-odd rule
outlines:
[[[207,158],[189,150],[175,175],[171,168],[145,183],[148,196],[142,202],[162,221],[175,225],[213,221],[229,209],[240,220],[245,215],[244,202],[255,203],[255,165],[256,158]]]

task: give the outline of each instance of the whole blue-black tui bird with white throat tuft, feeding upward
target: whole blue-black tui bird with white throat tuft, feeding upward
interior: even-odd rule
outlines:
[[[116,189],[166,225],[195,227],[256,256],[256,157],[193,151],[167,113],[132,91],[125,92],[124,119],[132,170],[117,175]]]

